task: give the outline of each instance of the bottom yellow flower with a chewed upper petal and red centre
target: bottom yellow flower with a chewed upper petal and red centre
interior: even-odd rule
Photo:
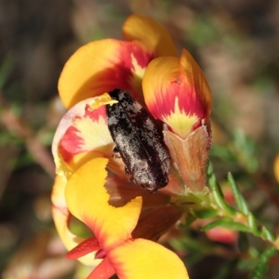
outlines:
[[[132,231],[140,217],[142,197],[117,208],[107,203],[110,195],[103,187],[107,161],[105,158],[90,160],[68,180],[68,209],[94,233],[68,252],[68,258],[98,250],[96,257],[103,258],[103,262],[89,278],[109,278],[114,273],[119,278],[188,278],[185,266],[174,252],[153,241],[133,239]],[[91,169],[98,175],[89,176]],[[82,187],[77,187],[79,185]]]

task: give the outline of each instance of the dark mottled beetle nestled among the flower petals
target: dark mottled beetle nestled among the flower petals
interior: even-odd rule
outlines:
[[[149,113],[127,91],[109,92],[118,103],[106,105],[107,126],[126,165],[129,181],[151,193],[169,182],[169,151]]]

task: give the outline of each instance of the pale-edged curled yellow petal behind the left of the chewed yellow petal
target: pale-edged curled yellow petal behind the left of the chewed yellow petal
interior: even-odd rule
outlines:
[[[56,176],[52,190],[52,216],[57,232],[66,246],[67,250],[73,249],[84,239],[70,232],[68,223],[70,220],[70,212],[68,211],[65,200],[66,179]],[[96,266],[100,263],[100,259],[94,259],[95,252],[84,257],[80,257],[79,261],[89,266]]]

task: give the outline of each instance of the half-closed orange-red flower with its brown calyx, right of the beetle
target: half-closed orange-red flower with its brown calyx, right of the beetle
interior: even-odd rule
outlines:
[[[202,70],[187,50],[180,60],[153,59],[142,82],[151,114],[166,124],[165,143],[188,190],[202,193],[211,144],[211,92]]]

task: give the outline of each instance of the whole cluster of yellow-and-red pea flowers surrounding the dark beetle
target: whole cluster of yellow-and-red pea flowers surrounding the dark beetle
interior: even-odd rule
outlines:
[[[204,190],[211,141],[209,86],[193,57],[183,50],[178,59],[167,31],[149,17],[128,17],[123,37],[81,47],[61,73],[59,94],[70,110],[52,145],[54,222],[71,250],[68,257],[96,266],[90,278],[113,273],[119,278],[188,278],[180,259],[153,241],[183,214],[172,197]],[[128,183],[122,160],[113,157],[105,105],[114,101],[105,92],[115,88],[145,101],[165,123],[165,142],[178,172],[171,171],[168,186],[156,194]],[[90,239],[70,232],[72,215],[91,229]]]

